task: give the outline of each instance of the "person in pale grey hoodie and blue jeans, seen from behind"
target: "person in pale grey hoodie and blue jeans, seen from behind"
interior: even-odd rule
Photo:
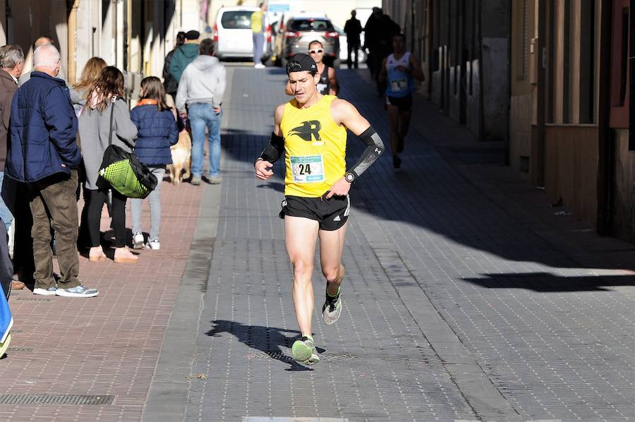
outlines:
[[[210,132],[210,168],[208,181],[221,182],[220,176],[220,126],[222,102],[225,92],[226,71],[214,57],[214,42],[202,40],[200,55],[188,64],[176,92],[176,109],[182,118],[190,120],[192,128],[192,179],[190,183],[200,185],[204,167],[205,128]]]

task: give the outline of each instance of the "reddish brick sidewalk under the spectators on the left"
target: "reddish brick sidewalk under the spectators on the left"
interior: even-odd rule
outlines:
[[[24,289],[13,291],[9,300],[15,325],[8,358],[0,361],[0,394],[87,394],[103,400],[114,396],[114,402],[0,404],[1,421],[140,420],[198,222],[202,191],[210,188],[163,183],[161,250],[141,251],[134,264],[111,259],[90,263],[80,257],[80,279],[99,289],[96,298],[37,296]],[[102,231],[110,223],[104,217],[105,210]],[[143,224],[148,231],[147,201]],[[126,227],[131,227],[129,211]]]

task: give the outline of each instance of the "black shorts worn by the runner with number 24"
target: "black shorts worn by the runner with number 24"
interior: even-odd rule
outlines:
[[[303,198],[301,196],[286,196],[282,201],[282,211],[279,217],[304,217],[315,219],[320,223],[320,230],[337,230],[344,226],[349,219],[351,200],[349,195],[334,195],[330,199],[325,197]]]

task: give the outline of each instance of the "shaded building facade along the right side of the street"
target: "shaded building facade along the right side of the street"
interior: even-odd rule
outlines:
[[[384,0],[421,59],[420,92],[553,203],[635,242],[628,0]],[[629,88],[630,87],[630,88]],[[632,120],[632,119],[631,119]]]

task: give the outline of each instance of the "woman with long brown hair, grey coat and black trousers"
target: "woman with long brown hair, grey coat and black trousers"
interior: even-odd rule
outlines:
[[[101,246],[99,223],[102,208],[108,200],[108,184],[99,179],[99,166],[108,147],[110,132],[112,144],[131,152],[137,138],[137,127],[123,101],[123,74],[118,68],[107,66],[92,84],[87,102],[79,118],[79,134],[86,169],[85,188],[90,191],[87,205],[87,227],[90,238],[91,261],[106,258]],[[114,262],[133,263],[137,255],[126,248],[126,197],[112,190],[112,228],[114,229]]]

